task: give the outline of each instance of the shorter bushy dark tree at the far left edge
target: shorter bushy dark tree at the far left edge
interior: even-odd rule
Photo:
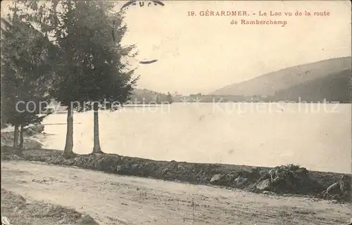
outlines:
[[[1,120],[14,126],[13,147],[18,147],[18,129],[41,122],[41,103],[46,102],[50,77],[51,47],[47,37],[16,15],[1,19]]]

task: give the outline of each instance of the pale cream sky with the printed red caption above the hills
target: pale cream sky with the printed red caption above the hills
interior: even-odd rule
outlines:
[[[122,42],[137,46],[139,55],[131,63],[138,67],[141,89],[207,94],[289,66],[351,56],[349,1],[163,1],[165,6],[147,7],[148,2],[125,10],[129,30]],[[200,15],[207,10],[256,15]],[[196,15],[189,16],[191,11]],[[259,11],[283,15],[265,17]],[[329,16],[284,15],[289,11],[328,11]],[[230,24],[241,19],[286,20],[287,25]]]

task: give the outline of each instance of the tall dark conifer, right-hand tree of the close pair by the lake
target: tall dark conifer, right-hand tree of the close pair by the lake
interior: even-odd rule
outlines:
[[[137,81],[132,79],[134,71],[128,71],[127,65],[121,63],[122,57],[130,55],[133,46],[121,46],[120,41],[127,29],[122,26],[122,16],[112,13],[112,9],[113,4],[104,1],[75,1],[63,22],[66,35],[57,37],[65,66],[58,71],[63,79],[54,85],[54,96],[68,105],[71,117],[72,104],[69,102],[73,99],[65,98],[68,93],[75,96],[77,102],[92,103],[80,110],[94,110],[93,153],[102,153],[99,105],[112,110],[114,102],[122,105],[132,94]]]

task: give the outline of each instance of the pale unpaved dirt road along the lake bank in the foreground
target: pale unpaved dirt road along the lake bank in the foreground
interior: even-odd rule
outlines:
[[[1,187],[74,207],[99,224],[346,224],[351,205],[118,176],[32,162],[1,162]]]

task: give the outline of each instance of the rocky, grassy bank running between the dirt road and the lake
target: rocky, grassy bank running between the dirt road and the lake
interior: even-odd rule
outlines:
[[[61,150],[28,148],[17,153],[13,148],[1,146],[1,161],[24,160],[89,169],[108,174],[138,176],[164,181],[176,181],[222,188],[240,189],[269,195],[296,195],[308,198],[335,200],[350,203],[339,190],[326,193],[327,188],[339,181],[342,173],[308,171],[304,167],[253,167],[210,163],[158,161],[115,154],[74,155],[65,159]],[[272,175],[274,174],[274,175]],[[285,175],[286,174],[286,175]],[[344,174],[351,181],[351,174]],[[274,176],[273,179],[270,176]],[[284,179],[282,179],[282,177]],[[281,177],[281,178],[280,178]],[[351,186],[351,183],[349,184]],[[351,187],[350,187],[351,188]],[[350,189],[351,190],[351,189]],[[350,191],[351,192],[351,191]]]

